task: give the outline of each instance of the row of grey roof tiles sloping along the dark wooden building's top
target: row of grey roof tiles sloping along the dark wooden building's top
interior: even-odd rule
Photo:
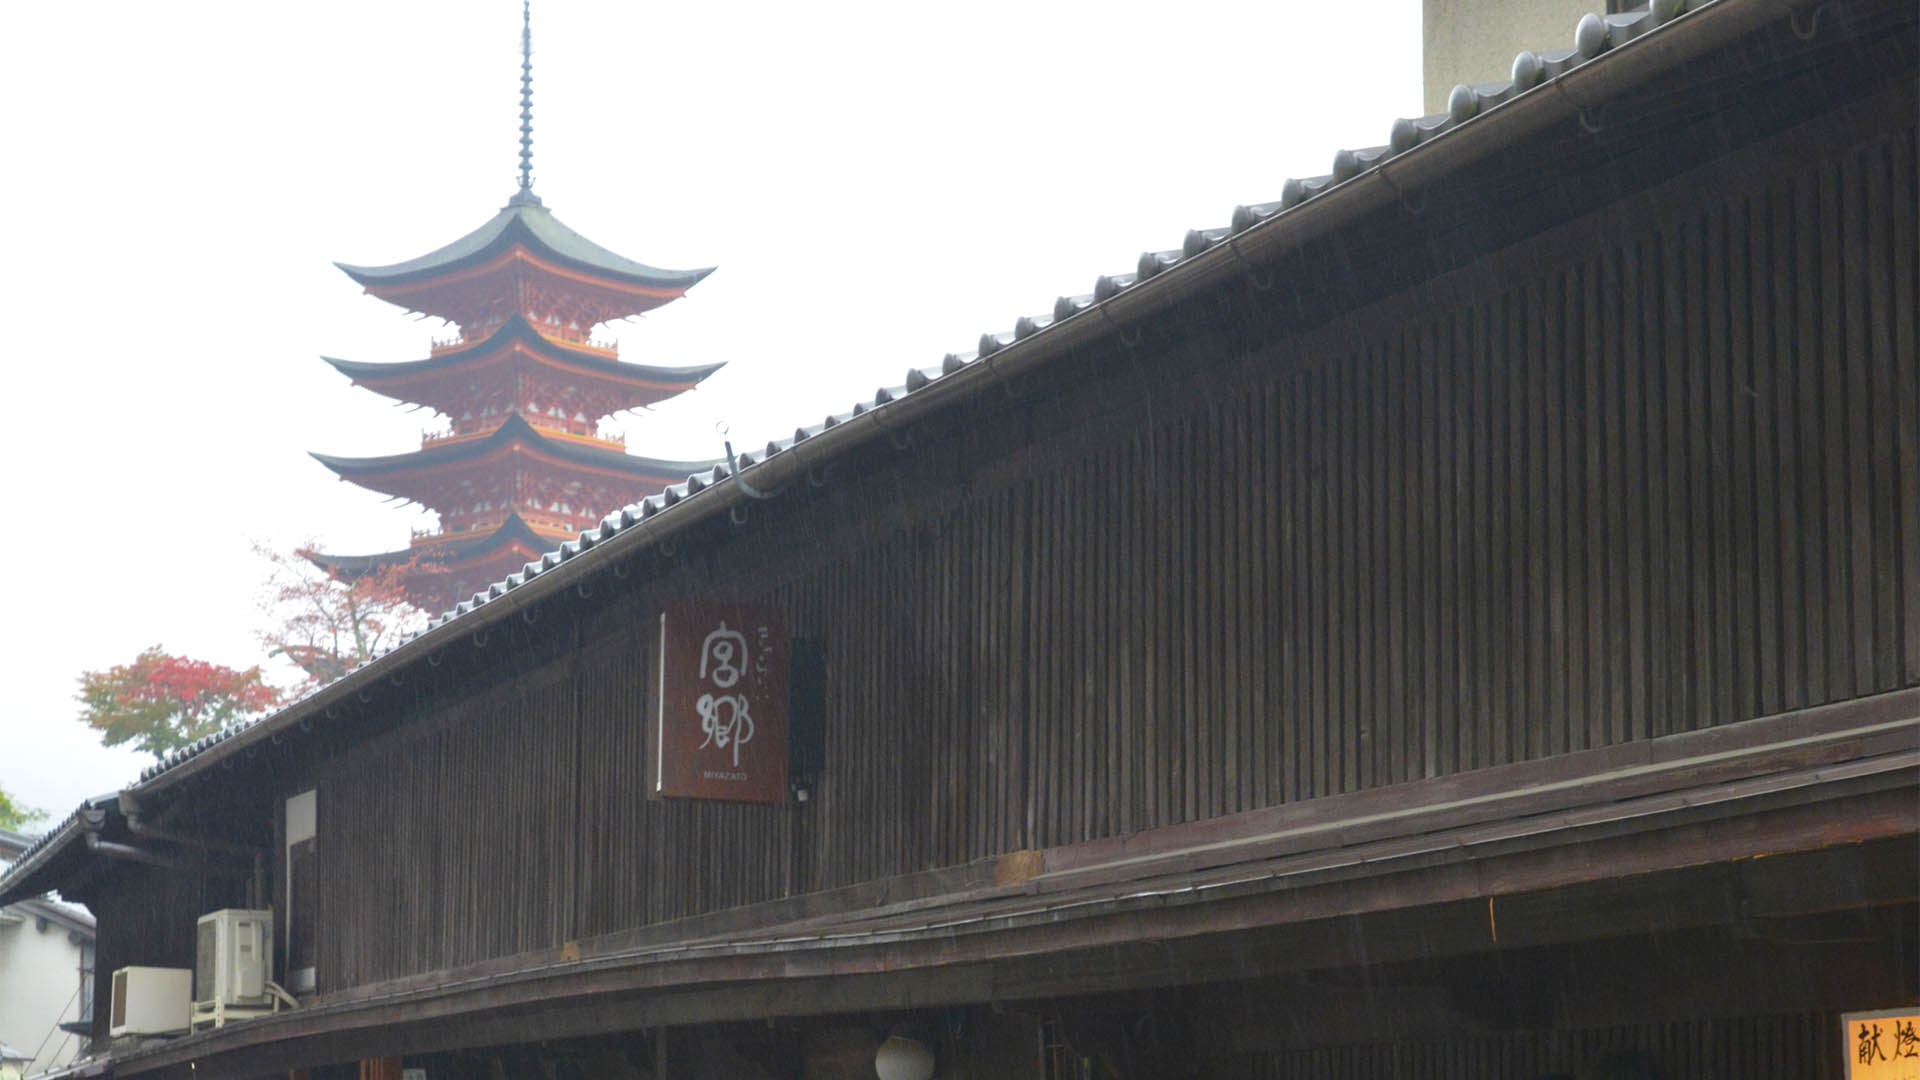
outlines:
[[[1693,13],[1705,15],[1713,10],[1740,10],[1747,12],[1747,21],[1730,19],[1734,33],[1738,29],[1761,25],[1763,19],[1786,17],[1788,12],[1778,6],[1768,6],[1763,0],[1709,0],[1705,4],[1692,4]],[[1187,233],[1179,248],[1164,252],[1144,252],[1131,271],[1100,275],[1092,282],[1092,290],[1087,294],[1062,296],[1052,304],[1052,309],[1041,315],[1023,315],[1014,321],[1012,331],[985,332],[979,344],[972,352],[948,354],[941,363],[929,367],[908,369],[906,379],[897,386],[885,386],[877,390],[872,400],[854,404],[849,411],[829,415],[816,425],[804,425],[795,429],[791,438],[781,438],[768,442],[764,450],[741,454],[737,459],[739,480],[743,484],[753,482],[756,469],[770,463],[778,463],[781,457],[799,455],[806,457],[808,444],[816,438],[826,436],[833,429],[847,425],[858,417],[870,417],[879,425],[885,425],[902,407],[912,405],[929,390],[939,390],[950,380],[964,382],[968,386],[979,386],[968,377],[975,369],[993,369],[996,356],[1002,352],[1020,352],[1025,348],[1044,348],[1043,342],[1054,336],[1071,334],[1075,327],[1085,327],[1087,321],[1100,319],[1104,309],[1114,309],[1127,304],[1135,294],[1142,298],[1160,288],[1156,282],[1164,279],[1173,279],[1187,273],[1192,267],[1208,263],[1215,248],[1233,248],[1242,240],[1254,240],[1261,233],[1273,229],[1284,229],[1286,223],[1296,215],[1311,215],[1313,208],[1327,202],[1329,196],[1344,190],[1356,181],[1365,181],[1369,175],[1380,173],[1380,167],[1388,161],[1396,161],[1402,156],[1413,154],[1421,158],[1421,148],[1446,140],[1450,133],[1457,129],[1471,127],[1476,119],[1488,113],[1505,111],[1501,106],[1521,98],[1534,98],[1548,85],[1569,73],[1580,69],[1588,61],[1605,56],[1622,44],[1634,42],[1636,38],[1657,31],[1659,27],[1672,23],[1682,13],[1688,13],[1688,0],[1653,0],[1651,8],[1617,15],[1584,15],[1572,33],[1572,46],[1549,52],[1523,52],[1513,60],[1513,75],[1505,83],[1492,83],[1480,86],[1455,86],[1448,100],[1448,111],[1419,119],[1398,119],[1388,129],[1388,138],[1384,146],[1373,146],[1363,150],[1338,150],[1332,156],[1331,169],[1321,177],[1308,179],[1288,179],[1281,184],[1279,198],[1271,202],[1254,202],[1235,208],[1227,215],[1225,225],[1204,227]],[[1692,21],[1692,15],[1686,21]],[[1705,46],[1701,46],[1705,48]],[[1603,65],[1601,65],[1603,67]],[[1572,106],[1569,106],[1572,108]],[[490,223],[492,227],[492,223]],[[484,233],[486,229],[482,229]],[[472,236],[470,236],[472,238]],[[468,238],[468,240],[470,240]],[[465,242],[465,240],[463,240]],[[457,246],[457,244],[455,244]],[[447,256],[453,248],[449,246],[438,256]],[[451,256],[449,256],[451,258]],[[422,259],[415,259],[417,263]],[[407,267],[411,263],[401,263]],[[1221,263],[1225,265],[1225,263]],[[386,267],[390,271],[399,271],[401,267]],[[1031,346],[1027,342],[1033,342]],[[958,392],[958,390],[956,390]],[[904,417],[902,417],[904,419]],[[877,429],[876,429],[877,430]],[[831,440],[829,440],[831,442]],[[810,459],[808,459],[810,461]],[[428,623],[428,626],[417,634],[399,640],[392,650],[382,651],[378,657],[369,661],[369,665],[380,665],[382,659],[394,655],[396,651],[409,651],[415,642],[422,638],[440,638],[438,630],[459,623],[486,609],[492,603],[501,601],[501,598],[513,596],[515,592],[530,586],[545,575],[589,555],[593,548],[607,544],[622,534],[639,530],[645,525],[655,528],[647,532],[659,532],[662,528],[676,528],[685,523],[691,525],[699,515],[687,513],[682,507],[693,496],[707,488],[718,486],[730,480],[733,473],[728,465],[714,465],[710,471],[701,471],[689,475],[684,482],[672,484],[660,494],[649,496],[634,505],[620,511],[609,513],[599,528],[582,532],[576,540],[568,540],[555,552],[541,555],[538,561],[526,563],[518,573],[492,584],[490,588],[476,592],[472,598],[463,600],[453,609],[438,615]],[[710,500],[695,500],[710,502]],[[691,509],[691,507],[689,507]],[[417,651],[417,650],[411,650]],[[397,661],[396,661],[397,663]],[[334,686],[342,686],[365,671],[355,669]],[[177,749],[167,755],[157,765],[148,767],[140,773],[138,786],[146,786],[156,778],[182,767],[188,761],[211,751],[227,740],[244,734],[250,728],[275,724],[284,721],[294,721],[300,717],[309,717],[313,701],[317,698],[328,696],[328,688],[321,688],[301,701],[296,701],[275,715],[236,724],[219,734],[207,736],[188,748]],[[71,819],[69,819],[71,824]],[[67,826],[61,826],[63,832]],[[0,878],[0,888],[4,888],[4,878]]]

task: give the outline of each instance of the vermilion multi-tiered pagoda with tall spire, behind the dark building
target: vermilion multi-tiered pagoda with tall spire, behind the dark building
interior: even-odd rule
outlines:
[[[616,256],[553,217],[534,194],[532,33],[520,29],[520,188],[492,221],[417,259],[340,265],[367,292],[457,332],[409,363],[326,361],[376,394],[447,417],[411,454],[332,457],[363,488],[440,515],[413,544],[374,555],[319,555],[338,577],[413,559],[409,600],[442,609],[486,588],[645,494],[710,467],[626,454],[599,430],[609,413],[691,390],[720,365],[626,363],[593,329],[651,311],[710,273],[655,269]]]

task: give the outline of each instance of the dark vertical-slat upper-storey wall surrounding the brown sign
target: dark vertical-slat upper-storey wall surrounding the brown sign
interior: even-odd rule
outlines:
[[[1914,136],[1795,169],[822,502],[806,807],[641,796],[645,603],[351,748],[323,988],[1920,684]]]

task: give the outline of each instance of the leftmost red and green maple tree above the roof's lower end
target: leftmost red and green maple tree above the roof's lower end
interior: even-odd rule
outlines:
[[[267,684],[259,665],[234,671],[152,646],[132,663],[83,673],[79,700],[81,719],[100,732],[100,742],[131,742],[165,757],[271,709],[280,690]]]

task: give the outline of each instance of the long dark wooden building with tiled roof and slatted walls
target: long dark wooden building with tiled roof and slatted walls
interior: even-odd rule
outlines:
[[[1920,13],[1572,40],[77,811],[0,901],[313,970],[92,1068],[1841,1076],[1920,999]],[[649,798],[685,601],[791,630],[793,798]]]

